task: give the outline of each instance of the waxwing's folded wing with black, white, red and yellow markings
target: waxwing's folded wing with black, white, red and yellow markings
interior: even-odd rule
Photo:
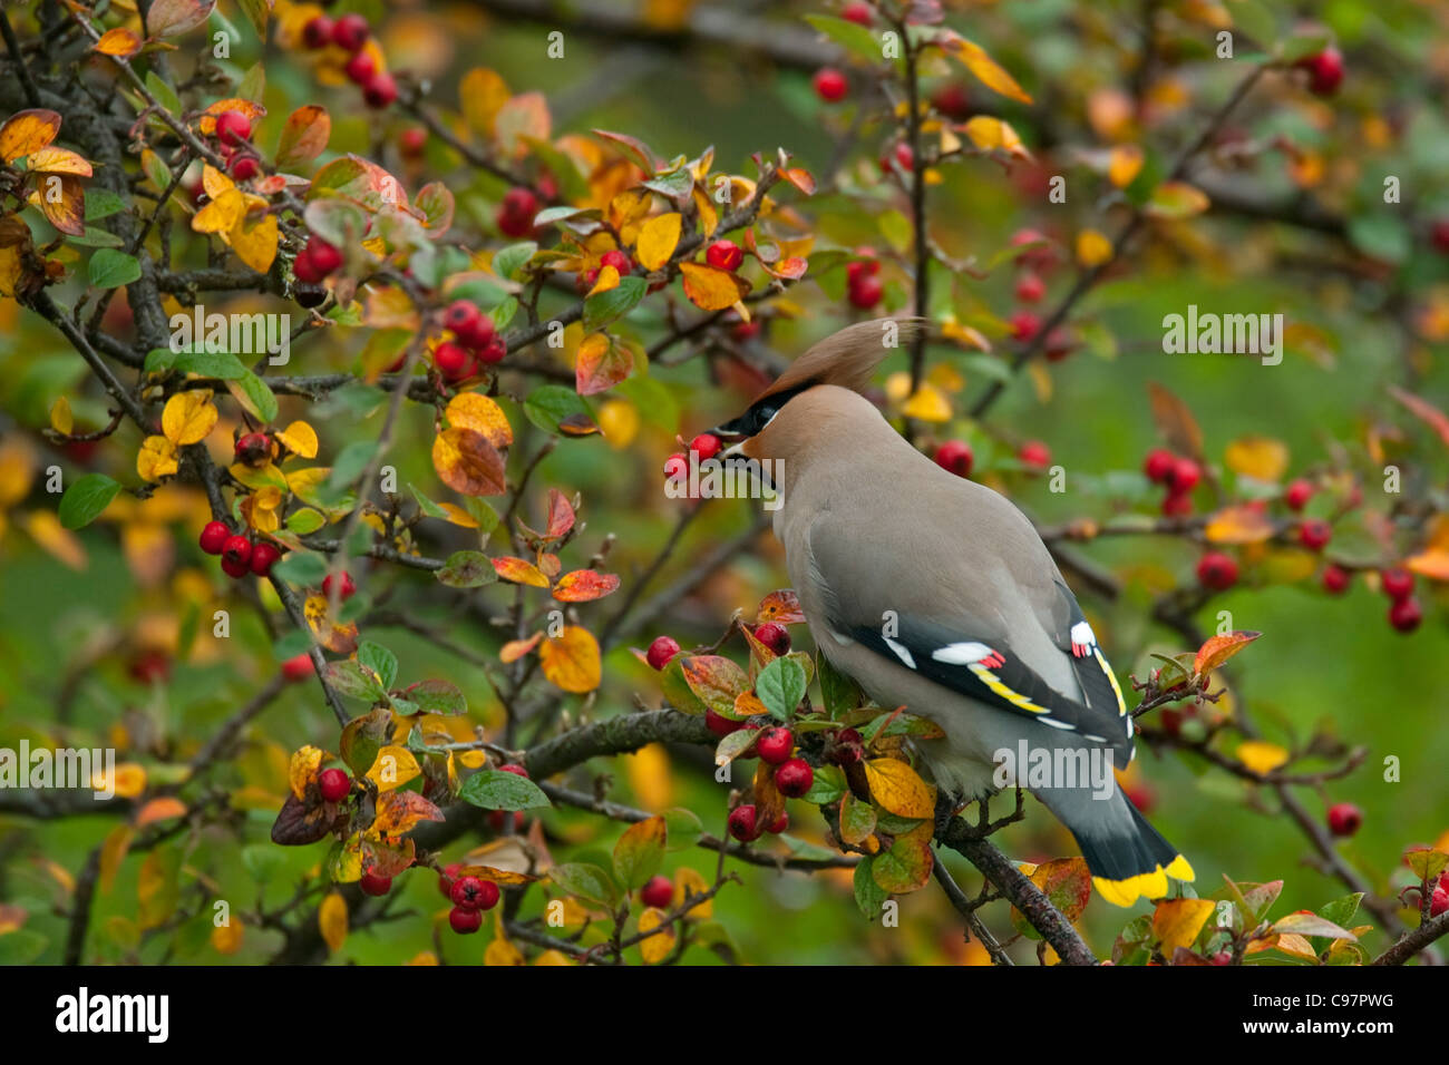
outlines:
[[[894,535],[903,527],[910,526],[897,526]],[[858,533],[830,511],[810,523],[811,578],[832,633],[961,696],[1110,745],[1122,764],[1127,762],[1132,717],[1120,711],[1120,697],[1104,694],[1116,690],[1116,680],[1095,639],[1087,639],[1090,626],[1077,627],[1085,620],[1065,585],[1059,585],[1065,601],[1048,603],[1033,588],[1003,594],[1000,574],[985,574],[966,561],[932,569],[924,552],[901,551],[898,543],[882,556]],[[1046,565],[1055,578],[1049,556]],[[851,580],[848,585],[839,578],[832,582],[830,574],[851,574]],[[929,611],[920,604],[930,604]],[[1090,658],[1072,653],[1074,636],[1090,645]],[[1056,661],[1046,658],[1058,655]],[[1046,680],[1072,675],[1085,698]]]

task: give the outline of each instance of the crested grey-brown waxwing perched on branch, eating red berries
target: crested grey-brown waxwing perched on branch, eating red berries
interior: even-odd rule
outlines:
[[[774,529],[819,652],[946,733],[920,743],[938,782],[968,800],[1019,782],[1071,829],[1104,898],[1161,898],[1193,868],[1116,784],[1132,716],[1046,545],[861,394],[887,339],[914,327],[842,329],[713,432],[780,491]]]

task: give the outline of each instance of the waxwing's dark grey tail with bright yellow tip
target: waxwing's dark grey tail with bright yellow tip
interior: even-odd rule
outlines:
[[[1137,898],[1162,898],[1168,877],[1194,880],[1193,866],[1153,829],[1122,791],[1110,798],[1072,803],[1042,800],[1071,829],[1081,848],[1098,894],[1114,906],[1132,906]]]

